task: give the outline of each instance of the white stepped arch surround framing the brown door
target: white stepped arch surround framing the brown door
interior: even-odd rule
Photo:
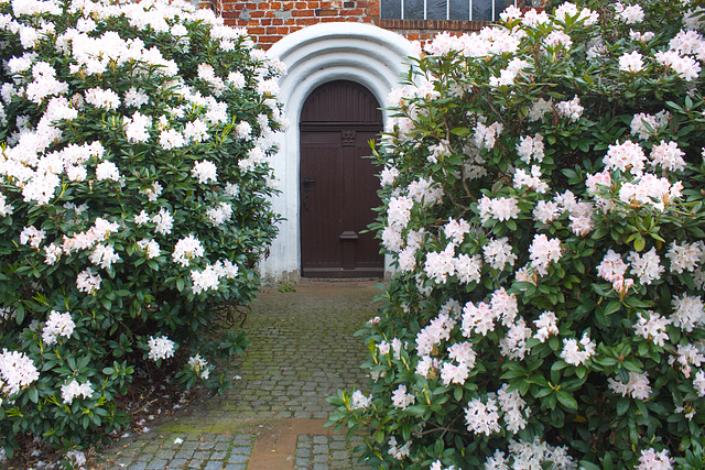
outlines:
[[[268,55],[288,68],[280,80],[280,100],[290,125],[279,138],[273,157],[274,175],[282,190],[273,210],[286,220],[270,255],[260,264],[267,278],[299,278],[301,272],[299,119],[306,98],[318,86],[333,80],[356,81],[368,88],[380,106],[409,69],[415,48],[405,37],[365,23],[322,23],[305,28],[275,43]],[[387,121],[387,111],[383,111]]]

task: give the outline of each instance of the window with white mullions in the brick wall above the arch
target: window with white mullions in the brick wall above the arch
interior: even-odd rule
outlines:
[[[381,0],[381,18],[497,21],[516,0]]]

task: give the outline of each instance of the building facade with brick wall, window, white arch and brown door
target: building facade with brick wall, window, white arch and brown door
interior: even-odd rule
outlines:
[[[284,217],[261,273],[270,280],[386,277],[389,260],[366,233],[380,203],[365,159],[383,130],[389,92],[417,54],[412,41],[478,31],[512,0],[212,0],[288,74],[280,100],[290,121],[272,161]],[[519,4],[519,7],[523,7]]]

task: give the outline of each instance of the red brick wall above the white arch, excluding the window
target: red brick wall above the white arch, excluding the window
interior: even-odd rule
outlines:
[[[246,28],[263,48],[305,26],[317,23],[354,21],[376,24],[406,36],[425,41],[441,31],[457,34],[478,31],[487,22],[389,20],[379,18],[379,0],[200,0],[231,26]],[[208,2],[209,1],[209,2]],[[523,3],[523,1],[521,2]]]

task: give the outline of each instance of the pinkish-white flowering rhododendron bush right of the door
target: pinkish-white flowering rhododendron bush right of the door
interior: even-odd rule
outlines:
[[[702,468],[701,2],[510,7],[394,91],[369,390],[404,469]]]

